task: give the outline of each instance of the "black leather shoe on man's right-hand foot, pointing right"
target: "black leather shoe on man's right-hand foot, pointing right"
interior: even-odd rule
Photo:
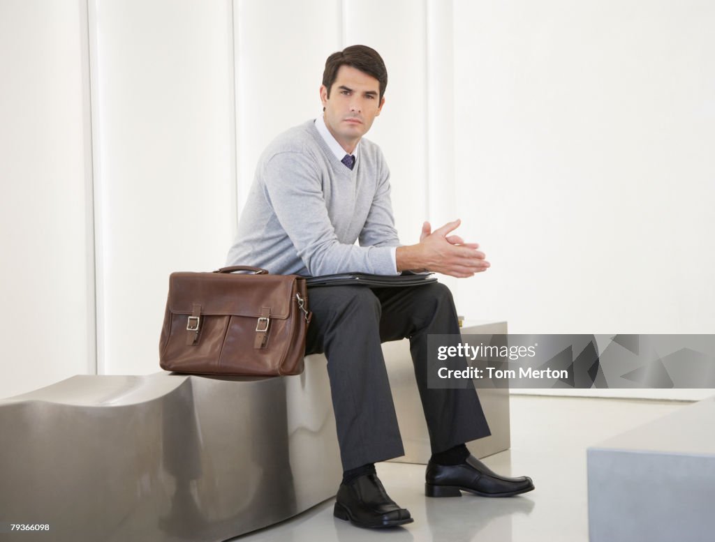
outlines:
[[[511,497],[534,488],[531,478],[507,478],[491,471],[474,456],[458,465],[438,465],[430,461],[425,473],[425,495],[428,497],[459,497],[469,491],[483,497]]]

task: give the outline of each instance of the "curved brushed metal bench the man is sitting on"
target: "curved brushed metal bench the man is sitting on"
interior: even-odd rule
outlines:
[[[384,347],[400,461],[426,463],[409,343]],[[218,542],[295,516],[342,474],[325,363],[280,378],[74,376],[0,400],[0,521],[49,525],[22,541]],[[508,390],[484,392],[479,456],[509,446]]]

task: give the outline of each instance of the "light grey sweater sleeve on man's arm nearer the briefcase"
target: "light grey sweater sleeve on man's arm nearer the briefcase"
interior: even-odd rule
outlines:
[[[394,274],[390,246],[342,244],[327,213],[320,171],[305,154],[281,152],[264,166],[266,197],[312,276],[349,271]]]

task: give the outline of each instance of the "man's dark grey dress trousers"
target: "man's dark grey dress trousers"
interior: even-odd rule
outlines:
[[[433,453],[490,434],[473,383],[428,388],[427,336],[458,335],[452,294],[441,283],[408,288],[310,288],[305,353],[325,353],[342,468],[404,455],[380,343],[410,339]],[[458,341],[458,338],[457,338]],[[464,368],[455,359],[450,368]]]

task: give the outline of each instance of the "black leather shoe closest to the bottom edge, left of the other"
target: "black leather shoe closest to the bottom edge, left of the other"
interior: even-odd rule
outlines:
[[[332,515],[366,528],[396,527],[414,521],[408,510],[388,496],[376,474],[363,474],[347,486],[341,483]]]

